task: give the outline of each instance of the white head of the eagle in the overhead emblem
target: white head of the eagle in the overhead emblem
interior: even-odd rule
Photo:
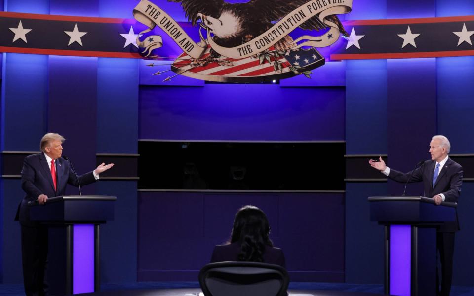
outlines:
[[[197,15],[201,18],[202,24],[211,30],[214,36],[220,39],[230,39],[244,33],[242,28],[243,20],[232,10],[223,10],[219,18],[213,18],[202,13]]]

